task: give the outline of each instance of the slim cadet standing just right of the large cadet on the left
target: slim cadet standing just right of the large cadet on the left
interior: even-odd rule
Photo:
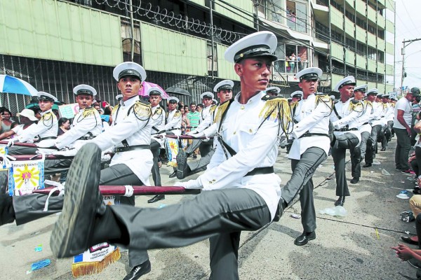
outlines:
[[[165,139],[159,137],[165,131],[165,111],[159,105],[163,97],[163,91],[159,87],[150,87],[147,90],[147,95],[149,95],[149,103],[152,106],[152,117],[151,121],[154,123],[152,125],[152,134],[151,134],[151,152],[154,156],[154,165],[152,167],[152,179],[154,180],[155,186],[161,185],[161,174],[159,174],[159,149],[163,148],[163,142]],[[164,200],[165,195],[155,195],[147,203],[158,202],[159,200]]]

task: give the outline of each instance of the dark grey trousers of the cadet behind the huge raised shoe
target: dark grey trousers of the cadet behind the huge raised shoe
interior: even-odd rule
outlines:
[[[127,165],[113,165],[101,170],[100,185],[108,186],[142,186],[142,181],[133,174]],[[46,195],[22,195],[13,197],[13,208],[15,209],[16,224],[22,225],[36,219],[62,211],[63,197],[50,197],[48,200],[48,211],[44,211]],[[120,197],[121,205],[135,205],[135,197]],[[95,245],[95,244],[93,244]],[[128,260],[131,267],[140,265],[148,260],[147,251],[129,250]]]

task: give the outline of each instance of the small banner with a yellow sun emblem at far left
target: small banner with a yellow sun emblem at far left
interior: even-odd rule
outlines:
[[[8,194],[27,195],[44,188],[44,160],[11,162],[8,169]]]

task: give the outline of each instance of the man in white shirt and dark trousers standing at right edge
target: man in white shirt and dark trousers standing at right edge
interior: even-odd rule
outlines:
[[[412,102],[421,96],[420,89],[413,87],[405,97],[395,104],[393,129],[396,134],[395,166],[396,170],[410,174],[408,156],[410,151],[410,122],[412,120]]]

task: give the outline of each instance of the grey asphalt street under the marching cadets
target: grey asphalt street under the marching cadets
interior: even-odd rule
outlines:
[[[300,203],[295,202],[281,221],[271,223],[257,232],[243,232],[239,250],[240,279],[415,279],[416,269],[408,262],[401,262],[390,249],[400,242],[408,231],[415,235],[415,223],[400,220],[402,211],[409,211],[408,200],[396,197],[401,190],[412,189],[414,183],[408,175],[394,169],[392,139],[385,152],[379,152],[370,168],[363,168],[359,183],[350,186],[347,197],[347,216],[336,217],[319,214],[333,207],[335,197],[335,174],[331,157],[323,162],[314,175],[314,201],[316,206],[316,239],[305,246],[295,246],[295,237],[302,232]],[[290,161],[284,149],[279,150],[275,172],[282,183],[290,177]],[[349,155],[348,155],[349,160]],[[380,165],[378,165],[380,163]],[[390,176],[383,175],[385,169]],[[350,162],[347,163],[350,177]],[[164,186],[172,186],[177,179],[169,179],[172,167],[161,168]],[[191,178],[196,178],[192,176]],[[152,182],[152,177],[151,177]],[[165,207],[191,199],[191,195],[166,196],[166,200],[147,204],[150,196],[136,198],[138,207]],[[57,215],[48,216],[25,225],[13,224],[0,227],[0,263],[3,269],[0,279],[74,279],[71,272],[72,259],[53,258],[49,239]],[[42,251],[36,252],[36,246]],[[208,279],[209,243],[184,248],[149,251],[152,272],[141,279],[178,280]],[[413,246],[415,248],[415,246]],[[30,272],[32,262],[51,259],[51,265]],[[123,279],[128,267],[128,253],[109,265],[102,273],[82,276],[79,279]]]

